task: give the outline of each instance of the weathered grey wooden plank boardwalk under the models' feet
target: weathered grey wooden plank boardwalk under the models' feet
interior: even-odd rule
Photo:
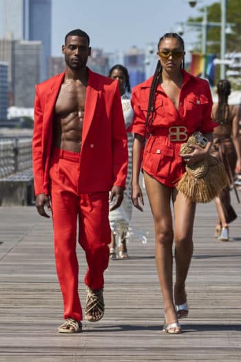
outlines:
[[[233,205],[241,215],[234,198]],[[147,200],[133,223],[149,232],[148,241],[128,244],[131,259],[110,261],[105,318],[84,321],[82,334],[63,335],[56,332],[63,310],[52,223],[34,207],[0,208],[0,362],[241,361],[240,217],[231,224],[231,241],[223,243],[213,239],[214,204],[198,205],[187,279],[189,318],[176,336],[161,331],[163,301]],[[86,263],[81,248],[78,254],[84,305]]]

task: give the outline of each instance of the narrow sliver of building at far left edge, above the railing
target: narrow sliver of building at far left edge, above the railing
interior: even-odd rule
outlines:
[[[8,110],[8,63],[0,61],[0,121],[6,121]]]

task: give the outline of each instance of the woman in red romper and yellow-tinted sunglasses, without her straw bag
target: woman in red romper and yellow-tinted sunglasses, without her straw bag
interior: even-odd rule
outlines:
[[[143,210],[139,185],[140,168],[156,233],[156,266],[165,304],[167,333],[180,333],[178,319],[187,316],[185,280],[193,254],[193,221],[196,205],[176,190],[185,172],[185,163],[207,157],[215,123],[211,121],[212,99],[209,84],[184,70],[184,43],[176,33],[158,42],[158,63],[153,77],[132,92],[134,110],[132,201]],[[193,145],[193,152],[180,156],[180,146],[196,131],[209,140],[205,148]],[[143,140],[147,139],[143,150]],[[143,153],[143,161],[142,161]],[[171,205],[174,208],[174,225]],[[175,242],[176,283],[172,281],[172,244]]]

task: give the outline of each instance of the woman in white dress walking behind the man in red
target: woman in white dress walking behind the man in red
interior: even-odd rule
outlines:
[[[131,89],[127,68],[121,66],[121,64],[116,64],[116,66],[113,66],[109,70],[109,77],[112,79],[118,79],[125,119],[125,128],[128,131],[129,126],[132,125],[133,110],[130,101]],[[112,229],[112,243],[110,244],[109,253],[110,259],[116,259],[116,256],[121,259],[128,258],[127,239],[129,235],[129,224],[132,219],[132,133],[127,132],[127,139],[129,162],[124,199],[120,208],[109,212],[109,223]]]

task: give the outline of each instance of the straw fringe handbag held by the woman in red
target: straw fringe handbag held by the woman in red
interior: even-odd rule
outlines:
[[[201,132],[191,134],[187,143],[183,143],[180,154],[193,152],[189,144],[200,145],[205,148],[207,139]],[[228,185],[227,174],[224,165],[216,157],[208,155],[204,160],[194,165],[186,165],[185,174],[178,182],[177,190],[189,197],[193,202],[208,203],[218,196],[220,191]]]

